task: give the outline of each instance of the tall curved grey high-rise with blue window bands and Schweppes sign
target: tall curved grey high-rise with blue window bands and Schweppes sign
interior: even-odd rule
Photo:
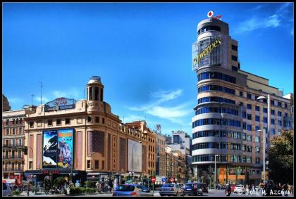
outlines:
[[[269,79],[240,70],[238,41],[227,23],[208,18],[197,26],[192,44],[192,70],[197,74],[197,105],[192,117],[192,164],[199,181],[216,184],[259,184],[263,168],[263,133],[269,139],[289,129],[290,101],[269,86]],[[271,122],[267,101],[271,94]],[[272,115],[273,113],[273,115]],[[266,149],[266,158],[268,150]],[[267,173],[267,172],[266,172]]]

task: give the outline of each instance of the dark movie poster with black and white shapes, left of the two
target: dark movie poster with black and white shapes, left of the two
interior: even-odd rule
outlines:
[[[56,168],[57,131],[43,131],[43,168]]]

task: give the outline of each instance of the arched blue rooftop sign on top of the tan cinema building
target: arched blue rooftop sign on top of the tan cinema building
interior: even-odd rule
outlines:
[[[51,111],[51,110],[64,110],[75,108],[76,101],[75,99],[69,98],[56,98],[53,101],[50,101],[45,104],[44,111]]]

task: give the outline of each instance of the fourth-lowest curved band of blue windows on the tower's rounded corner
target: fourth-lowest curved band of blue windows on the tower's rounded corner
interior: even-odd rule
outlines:
[[[230,120],[230,119],[221,119],[221,118],[208,118],[197,120],[192,122],[192,128],[199,127],[202,125],[209,125],[209,124],[216,124],[216,125],[228,125],[233,127],[240,127],[240,121],[238,120]]]

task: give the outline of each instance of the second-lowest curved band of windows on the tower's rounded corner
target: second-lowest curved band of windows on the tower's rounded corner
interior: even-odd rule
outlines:
[[[192,150],[204,149],[204,148],[240,150],[240,143],[206,142],[206,143],[196,143],[196,144],[192,145]]]

